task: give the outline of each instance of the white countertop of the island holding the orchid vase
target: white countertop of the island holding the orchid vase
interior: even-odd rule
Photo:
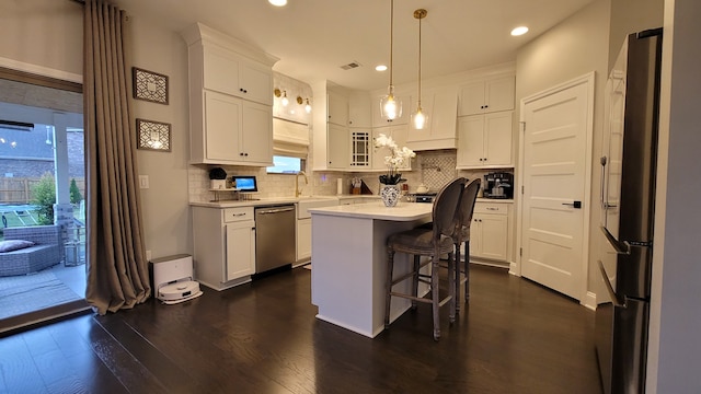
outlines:
[[[397,207],[388,208],[382,201],[372,201],[337,207],[310,208],[309,211],[312,213],[312,217],[314,215],[323,215],[346,218],[412,221],[430,216],[433,207],[433,204],[400,202]]]

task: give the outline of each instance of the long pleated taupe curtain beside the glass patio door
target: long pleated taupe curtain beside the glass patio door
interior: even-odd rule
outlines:
[[[125,20],[124,11],[114,5],[85,1],[85,299],[100,314],[133,308],[151,292],[130,120]]]

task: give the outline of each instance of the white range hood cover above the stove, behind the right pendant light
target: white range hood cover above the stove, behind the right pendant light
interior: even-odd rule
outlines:
[[[457,107],[458,94],[453,86],[434,88],[422,94],[421,106],[428,115],[428,124],[416,130],[410,121],[406,144],[421,151],[432,149],[457,148]],[[417,103],[412,103],[410,116],[416,111]]]

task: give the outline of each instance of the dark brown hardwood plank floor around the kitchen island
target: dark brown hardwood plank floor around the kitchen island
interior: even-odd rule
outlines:
[[[375,339],[315,320],[310,274],[2,338],[0,393],[600,393],[594,312],[503,269],[438,343],[424,304]]]

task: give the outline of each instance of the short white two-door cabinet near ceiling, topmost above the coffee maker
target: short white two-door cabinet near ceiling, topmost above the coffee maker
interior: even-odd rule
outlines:
[[[459,116],[514,109],[516,78],[490,78],[460,88]]]

